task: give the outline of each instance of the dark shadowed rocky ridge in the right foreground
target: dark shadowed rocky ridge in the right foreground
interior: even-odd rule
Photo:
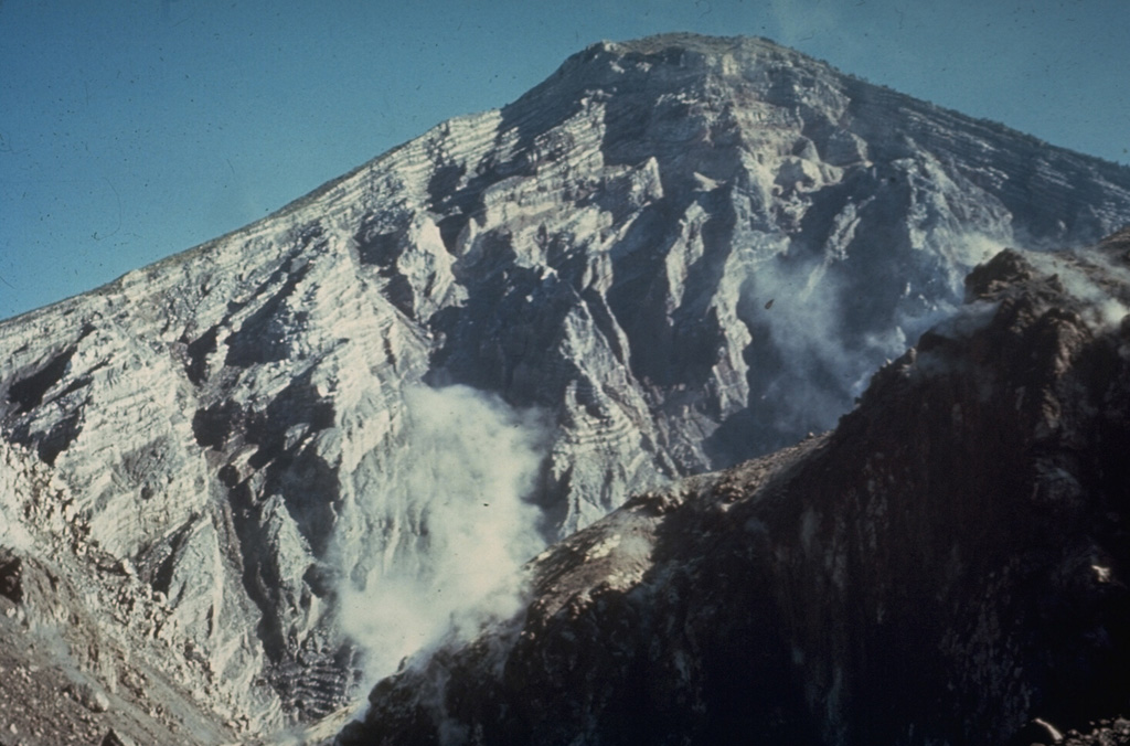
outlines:
[[[341,743],[1005,744],[1127,712],[1128,250],[977,267],[835,431],[550,548],[523,614]]]

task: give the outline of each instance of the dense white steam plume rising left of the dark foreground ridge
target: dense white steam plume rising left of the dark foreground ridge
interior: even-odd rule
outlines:
[[[467,387],[407,391],[405,422],[382,474],[349,506],[366,546],[342,556],[344,630],[371,682],[406,657],[486,617],[519,610],[519,566],[545,545],[525,497],[547,426]]]

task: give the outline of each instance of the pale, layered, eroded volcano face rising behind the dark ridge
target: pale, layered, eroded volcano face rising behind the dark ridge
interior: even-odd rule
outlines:
[[[415,644],[374,617],[435,630],[475,600],[444,596],[475,562],[454,523],[507,547],[501,576],[634,492],[833,425],[999,246],[1128,220],[1125,168],[770,42],[598,44],[0,324],[0,539],[128,563],[115,598],[183,662],[157,669],[240,727],[311,719]]]

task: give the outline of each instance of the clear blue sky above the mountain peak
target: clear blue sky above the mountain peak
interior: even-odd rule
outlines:
[[[768,36],[1130,163],[1130,0],[0,0],[0,318],[671,31]]]

